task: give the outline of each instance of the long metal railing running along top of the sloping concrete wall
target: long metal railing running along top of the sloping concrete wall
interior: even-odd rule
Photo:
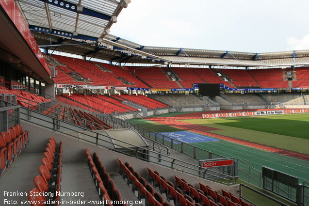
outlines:
[[[26,121],[26,122],[33,122],[34,120],[36,120],[37,126],[44,127],[52,131],[57,131],[59,133],[62,133],[67,136],[71,136],[78,140],[82,140],[87,143],[92,143],[97,146],[101,146],[103,148],[107,148],[107,149],[131,156],[131,157],[139,158],[139,159],[142,159],[148,162],[153,162],[161,166],[168,167],[170,169],[182,168],[183,173],[202,177],[198,174],[198,172],[202,170],[203,168],[193,163],[186,162],[186,161],[183,161],[177,158],[172,158],[160,152],[149,150],[145,147],[140,147],[140,146],[137,146],[131,143],[127,143],[119,139],[114,139],[113,137],[98,133],[88,128],[84,128],[84,130],[82,131],[74,130],[74,127],[77,127],[77,126],[73,123],[66,122],[64,120],[58,119],[53,116],[48,116],[48,115],[43,115],[43,116],[38,117],[37,115],[33,115],[33,113],[43,115],[42,113],[38,111],[31,110],[31,112],[29,112],[27,108],[21,108],[21,111],[20,111],[21,116],[23,115],[23,117],[26,117],[26,118],[21,118],[21,120]],[[44,116],[45,118],[43,118]],[[46,117],[49,117],[49,118],[46,118]],[[31,121],[29,119],[31,119]],[[64,132],[63,130],[60,130],[59,128],[65,128],[66,132]],[[73,135],[72,133],[68,133],[67,131],[74,131],[76,132],[77,135]],[[81,136],[83,136],[84,138],[81,138]],[[227,174],[221,174],[219,172],[212,171],[212,177],[206,178],[206,179],[211,179],[211,180],[220,182],[222,184],[230,185],[230,184],[233,184],[231,180],[234,180],[235,178],[236,177],[234,176],[230,176]]]

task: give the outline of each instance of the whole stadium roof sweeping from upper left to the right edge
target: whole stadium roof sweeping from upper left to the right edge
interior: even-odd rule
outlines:
[[[237,52],[148,47],[108,34],[130,0],[17,0],[38,45],[117,63],[309,65],[309,50]]]

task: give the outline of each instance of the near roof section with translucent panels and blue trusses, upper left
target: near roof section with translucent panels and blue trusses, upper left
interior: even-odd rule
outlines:
[[[102,38],[129,0],[16,0],[29,27]]]

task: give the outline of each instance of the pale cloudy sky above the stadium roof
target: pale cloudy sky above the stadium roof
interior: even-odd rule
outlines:
[[[143,46],[309,49],[309,0],[131,0],[111,34]]]

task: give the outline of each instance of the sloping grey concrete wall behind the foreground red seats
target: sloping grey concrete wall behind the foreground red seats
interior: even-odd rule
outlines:
[[[102,147],[98,147],[94,144],[84,142],[82,140],[77,140],[72,137],[68,137],[57,132],[49,131],[46,128],[38,127],[34,124],[30,124],[22,121],[21,126],[23,129],[29,130],[29,138],[30,143],[28,145],[29,152],[44,152],[46,144],[48,143],[49,137],[54,137],[58,142],[63,142],[63,163],[70,162],[85,162],[87,161],[87,157],[85,154],[85,147],[89,149],[89,152],[92,154],[93,152],[97,152],[100,160],[106,167],[107,171],[118,171],[119,163],[117,158],[120,158],[123,162],[129,162],[130,165],[134,167],[134,169],[141,174],[141,176],[147,179],[148,172],[146,167],[151,170],[157,170],[160,175],[165,176],[165,178],[169,181],[175,183],[174,175],[179,176],[180,178],[186,179],[188,182],[199,188],[198,183],[202,183],[205,185],[209,185],[212,189],[220,191],[221,189],[227,190],[235,195],[239,195],[239,186],[226,186],[221,185],[215,182],[211,182],[205,179],[201,179],[189,174],[184,174],[178,171],[174,171],[160,165],[155,165],[146,161],[142,161],[133,157],[129,157]]]

